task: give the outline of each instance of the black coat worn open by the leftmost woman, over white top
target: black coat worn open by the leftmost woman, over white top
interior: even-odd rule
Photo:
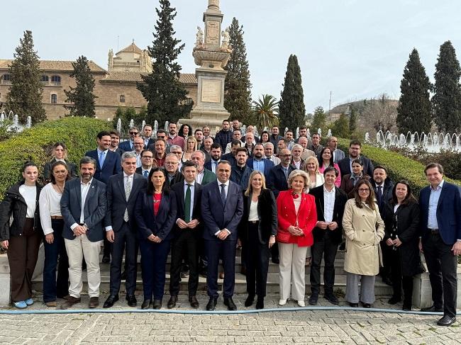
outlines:
[[[4,200],[0,203],[0,241],[10,239],[11,236],[21,236],[24,231],[24,223],[27,215],[27,204],[21,193],[19,187],[23,185],[24,180],[11,186],[6,191]],[[38,206],[38,198],[42,186],[36,183],[37,196],[35,197],[35,214],[33,221],[33,230],[42,231],[40,223],[40,208]],[[13,216],[13,222],[10,225],[10,217]]]

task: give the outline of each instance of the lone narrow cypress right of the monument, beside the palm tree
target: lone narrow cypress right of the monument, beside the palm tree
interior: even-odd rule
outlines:
[[[290,55],[288,59],[283,86],[284,89],[279,101],[280,126],[294,130],[304,124],[304,116],[306,115],[301,69],[296,55]]]

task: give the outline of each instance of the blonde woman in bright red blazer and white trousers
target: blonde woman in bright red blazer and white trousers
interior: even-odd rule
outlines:
[[[279,305],[290,297],[304,307],[306,251],[313,244],[312,230],[316,226],[317,211],[313,196],[306,193],[310,185],[306,171],[294,170],[288,177],[288,191],[277,197],[279,228]]]

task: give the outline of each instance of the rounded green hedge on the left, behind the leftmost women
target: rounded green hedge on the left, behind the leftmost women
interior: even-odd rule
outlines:
[[[33,160],[42,176],[55,142],[65,142],[68,159],[78,166],[84,153],[96,147],[96,134],[110,128],[111,123],[94,118],[64,118],[40,123],[0,142],[0,198],[7,188],[21,179],[24,162]]]

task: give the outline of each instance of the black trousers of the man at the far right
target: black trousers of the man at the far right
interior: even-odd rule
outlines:
[[[434,306],[439,308],[443,305],[443,314],[454,317],[457,295],[457,256],[451,251],[452,244],[445,244],[438,233],[427,234],[423,236],[422,241]]]

